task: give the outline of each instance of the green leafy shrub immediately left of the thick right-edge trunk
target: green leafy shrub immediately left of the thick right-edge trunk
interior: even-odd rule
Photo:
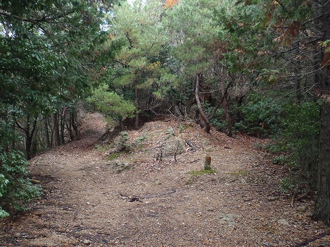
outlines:
[[[289,167],[290,173],[281,182],[281,191],[304,191],[306,187],[316,189],[318,102],[287,102],[282,107],[283,112],[278,117],[278,132],[281,135],[275,135],[272,142],[260,145],[260,148],[276,154],[272,163]]]

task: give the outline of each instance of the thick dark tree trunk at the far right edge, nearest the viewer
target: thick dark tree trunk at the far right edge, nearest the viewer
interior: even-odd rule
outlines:
[[[323,41],[330,39],[330,2],[324,1],[322,9]],[[327,45],[329,49],[329,44]],[[329,53],[329,51],[328,51]],[[318,159],[318,198],[312,214],[313,220],[330,224],[330,66],[327,52],[322,52],[320,92],[324,101],[320,106],[320,145]]]

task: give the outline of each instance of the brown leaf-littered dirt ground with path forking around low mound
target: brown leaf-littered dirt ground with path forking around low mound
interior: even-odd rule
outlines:
[[[131,151],[111,152],[105,130],[88,113],[79,140],[30,161],[44,196],[0,221],[0,246],[330,246],[312,196],[279,190],[289,168],[257,148],[267,140],[163,119],[129,131]],[[182,154],[159,154],[170,137]],[[205,156],[216,173],[198,173]]]

